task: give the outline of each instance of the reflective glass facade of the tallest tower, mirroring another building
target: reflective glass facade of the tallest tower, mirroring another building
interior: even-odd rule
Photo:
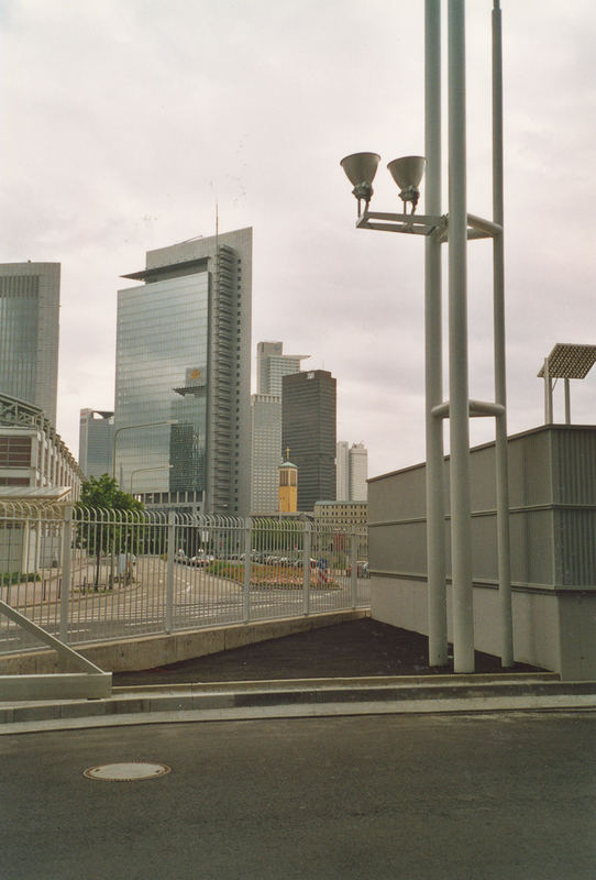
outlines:
[[[206,271],[119,293],[117,476],[134,493],[205,490],[208,318]]]

